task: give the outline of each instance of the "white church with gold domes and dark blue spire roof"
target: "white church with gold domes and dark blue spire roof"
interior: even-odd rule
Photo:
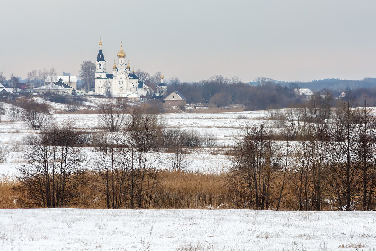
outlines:
[[[102,52],[102,39],[99,42],[99,52],[95,62],[95,92],[94,95],[106,95],[108,89],[112,96],[129,97],[139,99],[140,96],[147,95],[149,87],[140,83],[138,77],[130,71],[129,60],[126,63],[126,53],[123,52],[123,44],[121,44],[120,52],[117,53],[118,62],[114,60],[112,74],[106,72],[105,56]]]

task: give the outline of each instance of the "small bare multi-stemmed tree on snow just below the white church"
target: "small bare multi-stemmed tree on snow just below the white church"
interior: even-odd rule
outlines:
[[[117,132],[123,126],[127,102],[124,99],[108,99],[99,106],[99,124],[109,132]]]

